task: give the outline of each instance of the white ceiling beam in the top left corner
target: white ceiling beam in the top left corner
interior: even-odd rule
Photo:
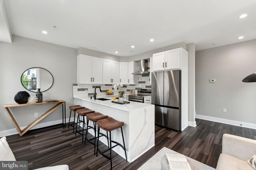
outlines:
[[[10,28],[4,0],[0,0],[0,41],[12,43],[12,31]]]

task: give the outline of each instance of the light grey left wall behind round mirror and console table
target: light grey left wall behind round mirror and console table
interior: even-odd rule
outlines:
[[[52,73],[54,84],[43,92],[43,100],[66,100],[66,115],[69,115],[68,106],[74,104],[72,83],[76,82],[77,50],[16,35],[12,36],[12,40],[12,43],[0,42],[0,132],[15,128],[2,106],[14,104],[14,96],[18,91],[36,94],[26,90],[20,82],[22,73],[31,67],[42,67]],[[35,112],[40,116],[50,107],[52,105],[25,106],[13,108],[12,111],[20,127],[24,127],[36,119]],[[62,119],[60,108],[42,123],[59,119]]]

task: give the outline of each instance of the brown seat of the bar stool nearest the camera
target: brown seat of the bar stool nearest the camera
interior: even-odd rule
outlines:
[[[119,127],[122,127],[124,125],[124,122],[117,121],[112,117],[108,117],[106,119],[99,120],[97,124],[101,129],[105,131],[113,131],[115,129],[118,129]]]

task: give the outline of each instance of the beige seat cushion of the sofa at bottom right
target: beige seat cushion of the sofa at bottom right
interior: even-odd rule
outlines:
[[[229,154],[222,153],[216,170],[254,170],[246,161]]]

